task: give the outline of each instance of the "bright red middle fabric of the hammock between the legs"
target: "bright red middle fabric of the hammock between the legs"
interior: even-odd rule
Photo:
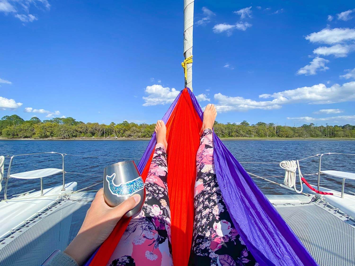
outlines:
[[[201,118],[185,88],[166,123],[168,142],[168,193],[171,210],[171,245],[174,266],[189,261],[193,229],[193,190],[196,179],[196,152],[200,144]],[[145,181],[153,153],[141,176]],[[121,219],[100,246],[90,266],[106,265],[129,221]]]

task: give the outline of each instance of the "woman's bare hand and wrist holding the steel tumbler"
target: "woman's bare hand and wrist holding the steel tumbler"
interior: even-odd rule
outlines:
[[[135,194],[120,205],[110,207],[105,203],[103,189],[100,189],[86,213],[78,234],[64,252],[71,256],[78,265],[84,264],[88,257],[108,238],[122,216],[132,210],[140,200],[141,196]]]

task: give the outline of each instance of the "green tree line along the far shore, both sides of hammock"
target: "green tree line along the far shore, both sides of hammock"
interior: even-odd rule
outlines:
[[[99,124],[76,121],[72,117],[41,121],[38,117],[23,120],[18,115],[4,116],[0,120],[0,135],[3,138],[151,138],[155,124],[122,123]],[[220,138],[355,138],[355,126],[317,126],[313,123],[300,127],[281,126],[258,122],[249,124],[214,123],[214,132]]]

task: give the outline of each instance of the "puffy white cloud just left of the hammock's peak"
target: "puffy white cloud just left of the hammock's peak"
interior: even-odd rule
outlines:
[[[175,88],[170,89],[159,84],[147,86],[144,92],[148,94],[148,96],[143,97],[143,100],[145,101],[143,106],[170,104],[179,94],[179,91]]]

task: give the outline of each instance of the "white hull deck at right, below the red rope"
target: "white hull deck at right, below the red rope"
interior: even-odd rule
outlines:
[[[336,171],[338,172],[338,171]],[[316,185],[311,185],[313,188],[317,189]],[[346,214],[355,217],[355,196],[344,193],[344,198],[341,197],[341,192],[320,187],[320,190],[323,192],[333,193],[334,195],[320,195],[315,193],[313,190],[308,188],[305,184],[303,184],[303,192],[310,194],[317,194],[322,196],[327,202],[329,202],[334,207],[339,208],[341,211]]]

